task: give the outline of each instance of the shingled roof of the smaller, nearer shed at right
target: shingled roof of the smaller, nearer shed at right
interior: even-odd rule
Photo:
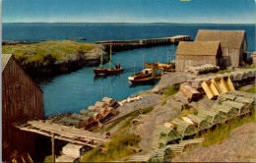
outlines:
[[[220,47],[220,41],[180,41],[176,51],[177,55],[208,55],[216,56]]]

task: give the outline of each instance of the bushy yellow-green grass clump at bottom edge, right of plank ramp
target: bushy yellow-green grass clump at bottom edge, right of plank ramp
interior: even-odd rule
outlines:
[[[111,140],[105,143],[102,151],[100,148],[94,148],[85,154],[80,162],[110,162],[134,154],[130,146],[138,146],[141,138],[135,135],[115,135]]]

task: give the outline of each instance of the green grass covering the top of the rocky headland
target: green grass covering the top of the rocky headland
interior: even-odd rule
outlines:
[[[75,41],[47,41],[34,44],[3,45],[2,54],[13,54],[22,64],[68,60],[72,55],[85,54],[93,45]]]

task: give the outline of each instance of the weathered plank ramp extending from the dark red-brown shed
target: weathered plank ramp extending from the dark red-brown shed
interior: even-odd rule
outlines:
[[[22,131],[32,132],[43,136],[54,136],[54,138],[57,139],[90,147],[100,146],[103,142],[109,140],[107,136],[100,134],[60,126],[57,124],[44,123],[42,121],[29,121],[24,125],[13,124],[13,126]]]

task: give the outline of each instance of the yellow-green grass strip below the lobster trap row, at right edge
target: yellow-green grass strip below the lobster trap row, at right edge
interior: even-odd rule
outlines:
[[[203,146],[209,146],[216,143],[222,143],[225,138],[227,138],[232,130],[238,128],[247,123],[255,123],[255,108],[251,115],[246,115],[244,117],[235,117],[229,120],[225,124],[218,125],[213,131],[209,130],[202,134],[200,137],[205,137],[206,139],[202,142]]]

